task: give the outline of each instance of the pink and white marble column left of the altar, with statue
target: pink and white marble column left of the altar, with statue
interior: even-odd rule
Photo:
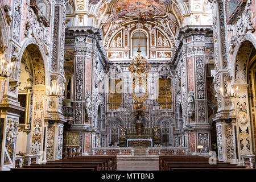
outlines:
[[[71,130],[82,133],[82,155],[88,155],[95,144],[93,136],[98,133],[98,106],[103,101],[96,85],[107,58],[100,42],[103,38],[101,30],[94,27],[70,27],[69,31],[75,39],[74,122]]]

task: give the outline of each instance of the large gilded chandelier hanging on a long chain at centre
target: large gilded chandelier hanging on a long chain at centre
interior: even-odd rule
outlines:
[[[134,56],[128,69],[131,73],[137,73],[138,75],[142,75],[142,73],[144,73],[147,75],[148,70],[151,68],[151,65],[150,65],[150,63],[147,64],[146,57],[141,55],[141,48],[140,48],[140,46],[141,46],[141,42],[140,42],[141,25],[140,25],[140,22],[138,24],[138,28],[139,28],[139,48],[137,51],[138,56]]]

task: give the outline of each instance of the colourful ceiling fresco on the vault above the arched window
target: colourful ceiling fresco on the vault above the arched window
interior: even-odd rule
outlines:
[[[166,5],[171,5],[171,0],[121,0],[114,4],[113,13],[115,20],[121,16],[137,16],[140,11],[142,18],[151,18],[154,15],[165,15]]]

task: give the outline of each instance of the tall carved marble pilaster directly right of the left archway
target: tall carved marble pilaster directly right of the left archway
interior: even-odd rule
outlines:
[[[64,44],[65,44],[65,15],[68,5],[65,1],[53,1],[53,26],[52,26],[52,53],[51,53],[51,79],[57,85],[65,89],[64,77]],[[51,82],[50,82],[51,85]],[[44,125],[46,125],[45,147],[46,159],[61,159],[63,145],[63,123],[64,116],[61,111],[61,97],[47,97],[46,115]]]

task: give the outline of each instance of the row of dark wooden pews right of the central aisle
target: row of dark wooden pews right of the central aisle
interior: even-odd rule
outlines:
[[[233,171],[245,169],[245,166],[237,166],[216,160],[216,164],[210,164],[209,158],[196,155],[168,155],[159,156],[159,171]],[[254,169],[253,169],[254,170]]]

